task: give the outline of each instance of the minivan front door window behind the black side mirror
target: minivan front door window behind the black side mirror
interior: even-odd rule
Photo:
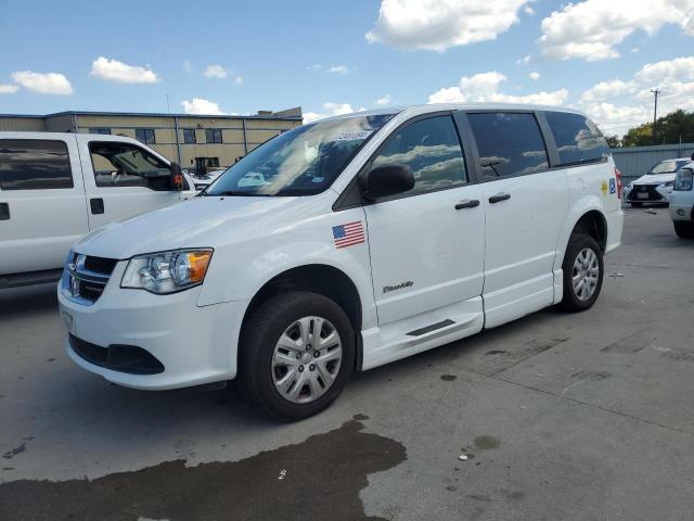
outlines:
[[[408,165],[414,188],[407,194],[451,188],[465,182],[465,162],[450,116],[412,123],[388,138],[372,168]]]

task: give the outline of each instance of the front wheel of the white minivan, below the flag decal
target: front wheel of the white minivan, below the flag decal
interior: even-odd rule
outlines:
[[[284,293],[244,325],[241,387],[273,416],[299,420],[325,409],[347,385],[354,364],[351,322],[323,295]]]

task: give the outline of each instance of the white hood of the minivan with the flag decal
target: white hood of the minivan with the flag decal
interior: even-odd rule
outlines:
[[[204,196],[174,204],[85,236],[75,251],[125,259],[180,247],[216,247],[258,237],[316,214],[314,198]],[[312,203],[312,204],[311,204]]]

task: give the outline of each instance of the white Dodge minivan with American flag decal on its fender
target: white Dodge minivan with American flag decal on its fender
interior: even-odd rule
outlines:
[[[304,125],[201,196],[79,241],[59,285],[66,350],[118,384],[237,379],[266,410],[307,417],[355,370],[592,306],[620,193],[605,139],[571,110],[424,105]]]

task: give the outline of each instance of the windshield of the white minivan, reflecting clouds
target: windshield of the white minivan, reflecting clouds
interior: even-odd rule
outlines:
[[[284,132],[223,173],[205,195],[322,192],[394,114],[318,122]]]

